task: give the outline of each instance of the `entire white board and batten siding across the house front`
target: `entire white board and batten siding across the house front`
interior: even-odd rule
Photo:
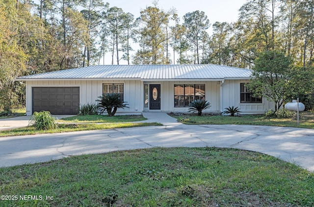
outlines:
[[[219,81],[149,81],[147,84],[160,84],[160,110],[166,112],[187,112],[188,107],[174,107],[175,84],[205,84],[205,99],[211,107],[204,112],[219,113],[229,106],[238,106],[242,113],[263,113],[274,104],[263,98],[262,103],[240,103],[240,83],[248,80]],[[141,113],[144,110],[144,82],[140,80],[33,80],[26,81],[26,113],[31,115],[33,86],[45,87],[79,87],[79,103],[95,103],[103,93],[103,83],[124,83],[124,100],[129,108],[119,109],[118,113]]]

